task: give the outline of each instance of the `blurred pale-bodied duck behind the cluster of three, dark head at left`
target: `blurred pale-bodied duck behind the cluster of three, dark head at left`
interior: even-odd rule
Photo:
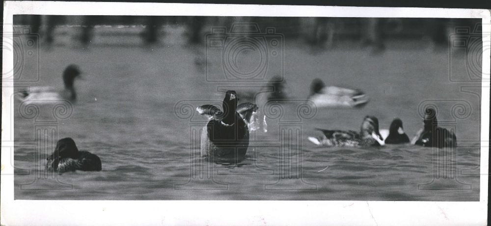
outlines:
[[[369,98],[361,90],[351,90],[335,86],[326,87],[322,80],[316,78],[310,85],[310,96],[308,100],[312,101],[318,108],[359,108],[365,106]]]

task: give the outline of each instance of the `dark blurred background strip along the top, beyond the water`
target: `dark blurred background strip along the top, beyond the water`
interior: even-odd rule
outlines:
[[[145,45],[161,43],[179,29],[189,43],[202,43],[210,26],[258,23],[261,30],[274,27],[288,39],[308,45],[336,47],[374,46],[383,49],[394,40],[422,41],[425,46],[448,44],[455,27],[474,28],[469,19],[432,18],[302,18],[302,17],[185,17],[185,16],[61,16],[16,15],[16,25],[29,26],[45,45]],[[117,39],[117,37],[120,37]],[[184,38],[183,37],[183,38]],[[115,42],[115,41],[118,42]]]

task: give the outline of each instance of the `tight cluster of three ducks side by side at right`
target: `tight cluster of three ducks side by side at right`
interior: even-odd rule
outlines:
[[[423,124],[423,129],[413,138],[412,144],[437,148],[457,146],[457,137],[455,134],[445,128],[438,127],[434,109],[426,109]],[[308,137],[308,139],[312,143],[321,146],[368,147],[409,143],[409,137],[404,133],[403,123],[399,118],[395,118],[392,121],[388,133],[387,131],[383,131],[388,136],[381,135],[379,132],[379,120],[370,115],[365,116],[363,119],[359,133],[355,131],[317,130],[323,132],[324,136],[317,138]]]

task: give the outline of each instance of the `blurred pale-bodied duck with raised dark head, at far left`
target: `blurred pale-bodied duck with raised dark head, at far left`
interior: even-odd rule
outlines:
[[[57,92],[53,87],[30,87],[28,90],[18,92],[16,97],[23,102],[42,103],[46,101],[70,100],[77,99],[74,82],[79,77],[81,71],[76,65],[69,65],[63,71],[63,84],[65,89]]]

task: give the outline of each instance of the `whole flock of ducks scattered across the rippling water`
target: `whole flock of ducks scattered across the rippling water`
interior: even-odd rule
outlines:
[[[52,87],[30,87],[16,93],[22,102],[42,104],[43,101],[71,100],[77,98],[74,81],[80,78],[78,66],[70,65],[63,72],[64,90],[56,91]],[[269,83],[274,89],[268,94],[269,101],[284,100],[284,81],[273,80]],[[327,87],[320,79],[314,79],[311,85],[309,103],[317,108],[348,107],[359,108],[366,105],[369,98],[361,90],[340,87]],[[252,115],[259,109],[253,103],[239,103],[239,96],[234,90],[228,90],[222,102],[222,108],[214,105],[202,105],[196,111],[209,120],[201,136],[201,154],[214,162],[238,163],[246,158],[249,146],[249,127],[254,123]],[[265,122],[265,121],[264,121]],[[454,148],[457,138],[452,132],[438,127],[436,112],[432,108],[425,110],[423,128],[409,140],[404,133],[403,122],[395,118],[389,130],[379,130],[379,120],[367,115],[363,118],[359,132],[353,130],[316,130],[321,136],[308,137],[312,143],[323,147],[370,147],[385,144],[411,143],[425,147]],[[57,141],[55,151],[46,159],[46,169],[53,172],[67,171],[100,171],[101,159],[89,152],[79,151],[75,141],[62,138]]]

